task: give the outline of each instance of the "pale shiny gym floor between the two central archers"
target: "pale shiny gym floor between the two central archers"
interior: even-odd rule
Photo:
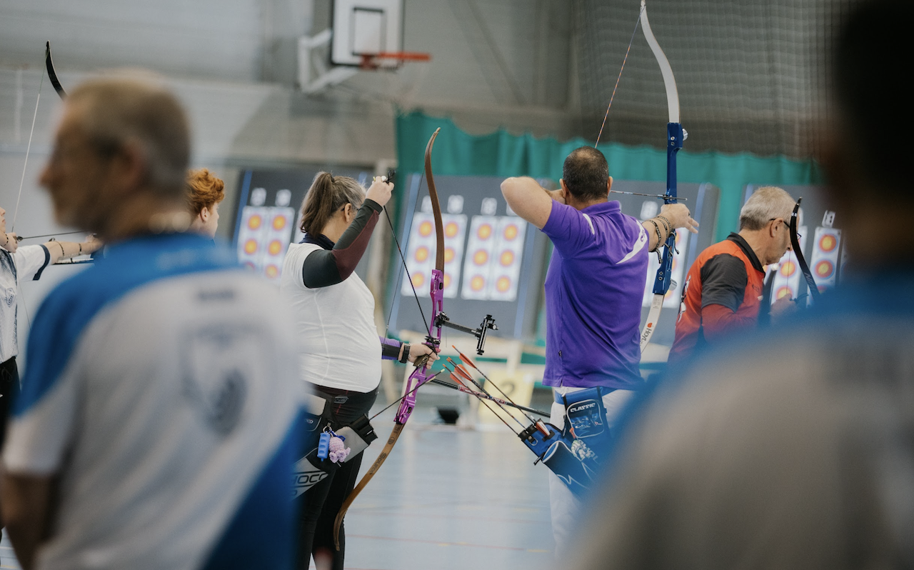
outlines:
[[[547,469],[505,425],[431,423],[417,409],[397,446],[346,515],[351,570],[505,570],[552,561]],[[372,422],[380,452],[392,414]]]

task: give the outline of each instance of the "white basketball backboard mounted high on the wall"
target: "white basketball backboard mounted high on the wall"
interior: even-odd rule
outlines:
[[[334,0],[333,65],[361,66],[364,56],[403,48],[403,0]]]

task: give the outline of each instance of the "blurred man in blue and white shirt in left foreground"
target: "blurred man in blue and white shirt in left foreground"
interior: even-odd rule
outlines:
[[[301,442],[271,285],[187,232],[186,116],[147,80],[69,93],[41,175],[104,260],[32,323],[3,454],[23,568],[291,568]]]

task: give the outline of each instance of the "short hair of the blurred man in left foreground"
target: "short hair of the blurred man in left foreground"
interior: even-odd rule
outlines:
[[[67,104],[81,108],[82,129],[100,154],[139,144],[149,188],[165,198],[184,197],[190,128],[174,94],[146,77],[108,77],[81,83]]]

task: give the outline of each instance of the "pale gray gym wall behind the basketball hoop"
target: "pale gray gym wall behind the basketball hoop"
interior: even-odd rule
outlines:
[[[406,0],[405,10],[404,48],[430,52],[430,64],[362,72],[306,96],[295,85],[297,38],[327,27],[330,0],[0,2],[0,207],[8,224],[16,216],[20,235],[69,230],[54,222],[37,185],[61,104],[44,72],[46,40],[65,89],[110,68],[164,75],[191,118],[193,166],[226,180],[226,220],[245,167],[395,164],[398,107],[448,115],[476,133],[573,134],[567,3]],[[50,268],[22,286],[21,339],[43,296],[77,270]]]

